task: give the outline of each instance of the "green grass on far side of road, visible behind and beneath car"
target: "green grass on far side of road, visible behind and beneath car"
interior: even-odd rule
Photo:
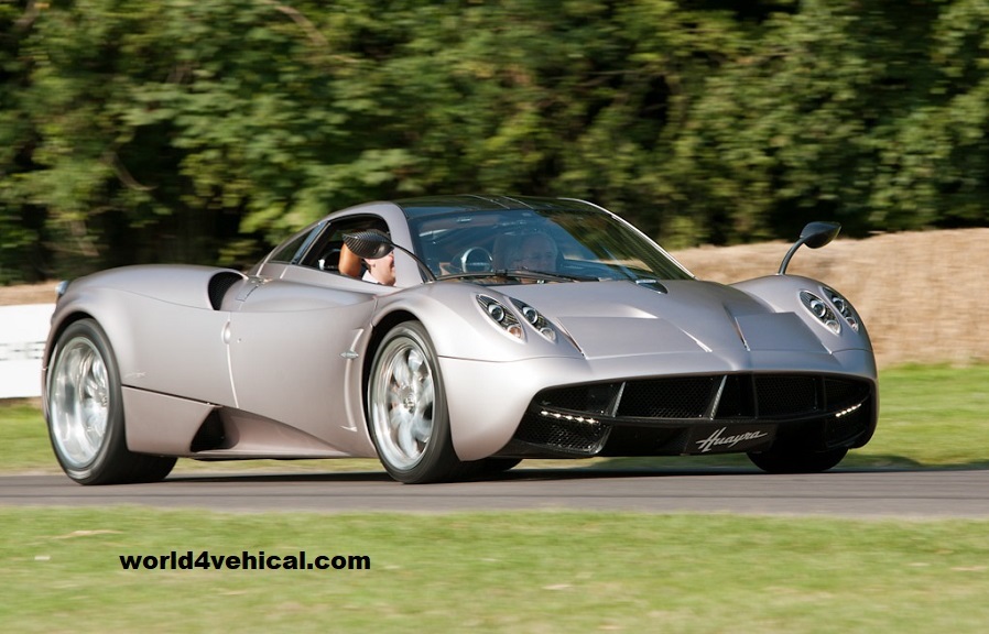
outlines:
[[[905,367],[880,374],[880,419],[876,436],[849,453],[845,467],[989,467],[989,365],[971,368]],[[619,458],[591,461],[528,460],[525,467],[689,468],[749,467],[745,456],[703,458]],[[197,462],[180,460],[176,473],[189,471],[380,470],[376,460],[300,460]],[[0,472],[58,472],[39,402],[0,404]]]

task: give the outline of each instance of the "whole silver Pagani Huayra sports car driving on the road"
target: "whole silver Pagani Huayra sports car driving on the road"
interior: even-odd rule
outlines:
[[[406,483],[524,458],[745,452],[836,466],[876,428],[866,328],[830,286],[695,278],[590,203],[369,203],[247,273],[126,266],[65,284],[45,417],[84,484],[176,458],[377,457]]]

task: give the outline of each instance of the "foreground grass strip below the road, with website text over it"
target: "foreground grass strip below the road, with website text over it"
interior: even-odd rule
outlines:
[[[989,521],[0,510],[10,632],[983,632]],[[369,570],[122,570],[120,555]]]

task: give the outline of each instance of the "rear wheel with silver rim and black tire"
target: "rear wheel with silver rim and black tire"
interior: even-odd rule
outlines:
[[[162,480],[175,458],[127,449],[120,372],[102,328],[70,324],[58,337],[45,386],[52,449],[65,474],[80,484]]]

